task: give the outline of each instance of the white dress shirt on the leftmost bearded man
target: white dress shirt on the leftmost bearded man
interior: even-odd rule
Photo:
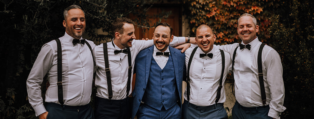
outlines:
[[[78,43],[73,46],[73,37],[67,33],[59,39],[62,47],[64,105],[86,105],[90,101],[93,83],[94,63],[91,51],[86,44]],[[94,42],[87,42],[92,48],[95,47]],[[43,45],[26,81],[28,99],[36,112],[36,116],[46,112],[40,86],[46,74],[50,86],[46,91],[45,101],[60,104],[57,93],[57,42],[55,40]]]

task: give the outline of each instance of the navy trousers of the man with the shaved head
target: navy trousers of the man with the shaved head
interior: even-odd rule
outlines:
[[[196,106],[184,100],[182,104],[182,119],[227,119],[223,103],[211,106]]]

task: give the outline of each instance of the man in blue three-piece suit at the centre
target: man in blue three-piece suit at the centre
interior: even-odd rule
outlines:
[[[135,59],[132,118],[181,118],[182,79],[186,76],[185,54],[169,47],[172,27],[160,23],[154,30],[154,46]]]

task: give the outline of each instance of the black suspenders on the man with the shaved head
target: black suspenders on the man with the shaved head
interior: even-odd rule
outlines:
[[[195,47],[191,53],[189,62],[187,64],[187,101],[190,101],[190,66],[191,66],[191,62],[193,59],[193,56],[196,52],[198,47]],[[220,49],[219,49],[220,50]],[[225,52],[223,50],[220,50],[220,54],[221,54],[221,61],[222,61],[222,69],[221,69],[221,76],[220,76],[220,80],[219,80],[219,86],[217,89],[217,96],[216,96],[216,100],[215,103],[217,104],[217,102],[220,99],[220,93],[221,93],[221,89],[222,89],[222,80],[223,80],[223,76],[224,76],[224,71],[225,71]]]

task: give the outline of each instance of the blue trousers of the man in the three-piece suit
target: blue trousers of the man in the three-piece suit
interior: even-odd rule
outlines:
[[[162,107],[159,111],[144,103],[138,108],[137,119],[181,119],[181,108],[176,103],[168,110]]]

